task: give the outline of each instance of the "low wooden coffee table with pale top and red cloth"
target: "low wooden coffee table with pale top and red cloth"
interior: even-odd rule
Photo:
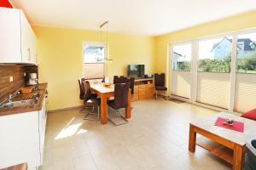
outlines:
[[[244,122],[244,132],[240,133],[224,127],[214,126],[218,116]],[[201,134],[202,137],[196,139],[196,133]],[[190,122],[189,151],[195,152],[195,144],[197,144],[205,150],[210,151],[212,155],[229,162],[233,170],[241,170],[247,140],[255,135],[255,121],[221,112],[196,122]]]

